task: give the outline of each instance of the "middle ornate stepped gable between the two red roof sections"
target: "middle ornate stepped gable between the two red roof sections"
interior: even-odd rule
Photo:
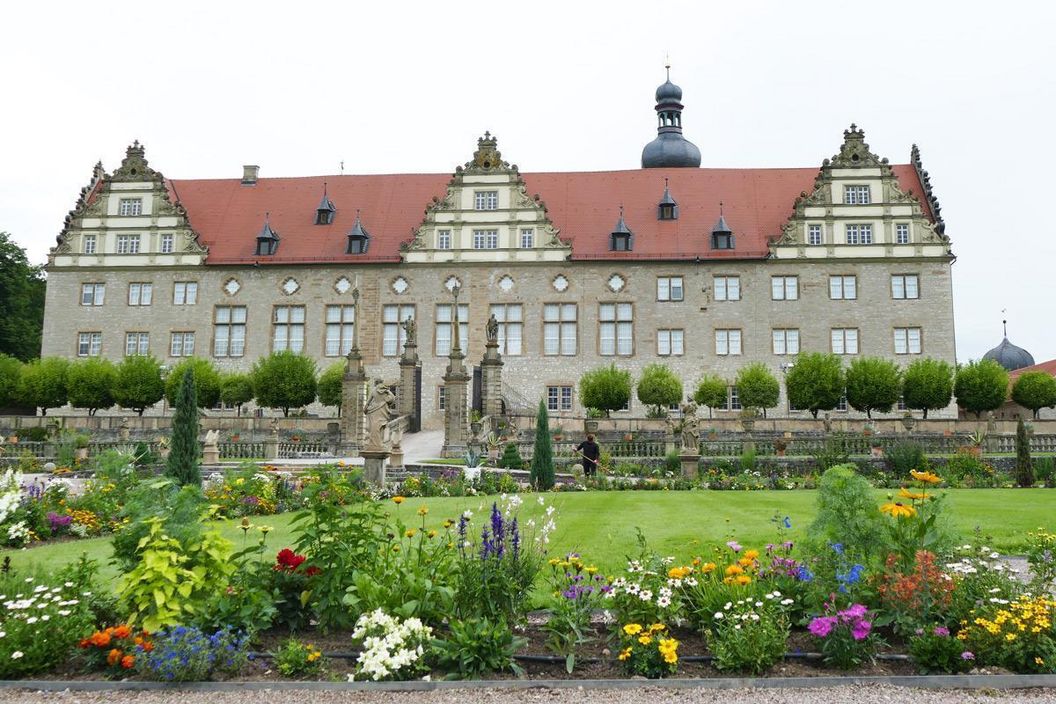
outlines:
[[[516,165],[503,159],[486,132],[473,158],[455,169],[444,196],[426,207],[421,225],[401,245],[407,262],[563,261],[563,241]]]

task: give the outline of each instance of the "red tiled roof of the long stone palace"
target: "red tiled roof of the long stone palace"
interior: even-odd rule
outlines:
[[[921,197],[911,165],[894,166],[904,191]],[[539,194],[572,258],[715,259],[762,258],[767,242],[780,234],[800,192],[813,189],[817,168],[802,169],[638,169],[523,174],[528,193]],[[658,221],[664,177],[678,202],[677,221]],[[297,262],[393,262],[399,245],[421,224],[433,196],[447,192],[448,174],[386,174],[169,182],[170,195],[187,208],[191,227],[209,248],[208,264],[288,264]],[[323,193],[337,206],[331,225],[314,225]],[[736,248],[711,249],[712,227],[723,202]],[[609,251],[609,233],[619,218],[634,232],[634,251]],[[922,204],[930,216],[927,204]],[[366,254],[345,254],[345,234],[356,210],[371,235]],[[269,213],[279,234],[276,254],[256,256],[257,234]]]

